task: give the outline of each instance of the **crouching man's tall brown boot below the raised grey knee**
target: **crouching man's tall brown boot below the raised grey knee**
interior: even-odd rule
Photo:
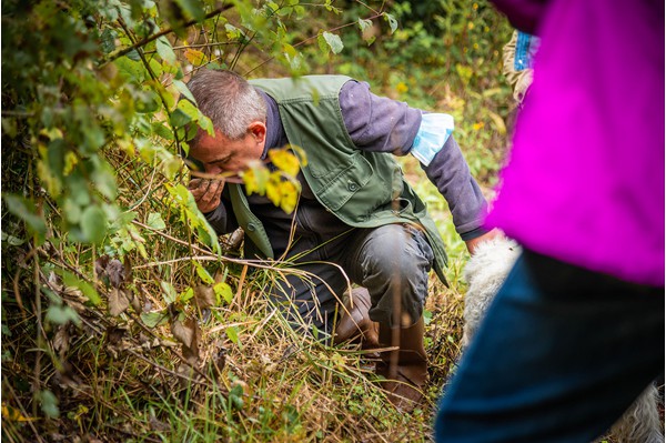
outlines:
[[[423,399],[427,382],[427,355],[423,346],[423,319],[408,328],[392,330],[380,325],[380,343],[397,348],[381,353],[375,372],[385,377],[380,382],[389,400],[403,412],[411,412]]]

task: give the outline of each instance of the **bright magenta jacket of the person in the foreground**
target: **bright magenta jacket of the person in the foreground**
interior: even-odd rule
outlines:
[[[664,2],[494,2],[541,47],[488,226],[663,286]]]

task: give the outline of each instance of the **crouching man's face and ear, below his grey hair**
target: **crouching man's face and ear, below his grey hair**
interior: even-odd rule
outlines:
[[[252,160],[260,160],[265,142],[265,125],[250,125],[242,139],[230,140],[219,130],[215,137],[204,133],[196,145],[190,150],[190,157],[203,164],[209,174],[238,174],[248,168]]]

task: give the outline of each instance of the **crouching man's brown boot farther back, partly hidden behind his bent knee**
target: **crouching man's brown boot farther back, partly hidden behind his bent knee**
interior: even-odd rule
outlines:
[[[365,288],[354,288],[344,304],[344,310],[335,328],[334,344],[361,342],[361,348],[376,349],[379,343],[379,325],[370,320],[370,293]]]

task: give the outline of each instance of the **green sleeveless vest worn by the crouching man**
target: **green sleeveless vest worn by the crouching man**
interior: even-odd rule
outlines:
[[[446,282],[444,243],[425,203],[416,195],[392,154],[360,151],[346,131],[339,94],[351,80],[343,75],[252,80],[271,95],[289,142],[307,157],[303,175],[322,205],[350,226],[411,223],[422,228],[435,254],[434,269]],[[273,251],[261,221],[250,211],[238,184],[228,184],[233,211],[246,236],[264,256]]]

